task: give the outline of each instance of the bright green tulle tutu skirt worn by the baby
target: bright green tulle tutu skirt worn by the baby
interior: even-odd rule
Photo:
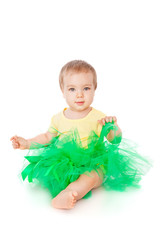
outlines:
[[[151,167],[150,161],[141,156],[129,140],[115,137],[112,143],[105,136],[117,130],[113,123],[103,126],[98,137],[91,132],[86,147],[78,131],[60,134],[49,144],[34,143],[25,158],[29,164],[22,171],[22,178],[40,184],[52,197],[76,181],[81,174],[92,170],[103,172],[105,189],[124,191],[127,187],[139,187],[139,182]],[[87,196],[86,196],[87,197]]]

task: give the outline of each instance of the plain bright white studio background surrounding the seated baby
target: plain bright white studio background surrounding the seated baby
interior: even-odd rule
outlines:
[[[159,13],[155,0],[0,2],[1,239],[160,238]],[[66,107],[58,75],[74,59],[97,71],[93,106],[116,115],[154,167],[141,190],[99,188],[63,211],[51,207],[48,192],[22,182],[26,152],[9,139],[45,132]]]

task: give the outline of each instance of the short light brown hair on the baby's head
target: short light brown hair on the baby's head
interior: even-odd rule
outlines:
[[[97,88],[97,74],[96,74],[95,69],[89,63],[87,63],[85,61],[73,60],[73,61],[70,61],[70,62],[66,63],[60,71],[59,85],[60,85],[61,89],[63,88],[64,76],[69,72],[72,72],[72,73],[81,73],[81,72],[88,73],[88,72],[91,72],[92,75],[93,75],[94,87],[95,87],[95,89]]]

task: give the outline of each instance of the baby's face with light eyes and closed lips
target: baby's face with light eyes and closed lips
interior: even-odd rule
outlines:
[[[93,102],[95,93],[92,73],[66,74],[62,92],[72,111],[86,110]]]

